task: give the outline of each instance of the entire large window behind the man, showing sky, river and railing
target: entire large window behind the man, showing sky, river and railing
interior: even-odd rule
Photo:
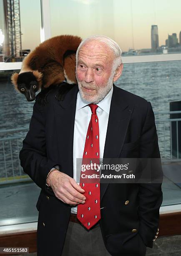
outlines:
[[[17,23],[21,39],[16,51],[7,45],[8,7],[4,10],[3,2],[0,0],[0,40],[5,36],[0,43],[0,226],[38,219],[35,204],[40,188],[23,173],[18,160],[34,102],[27,102],[14,90],[10,75],[20,70],[24,56],[40,43],[41,20],[45,39],[62,34],[82,38],[103,34],[118,42],[124,67],[116,85],[151,102],[165,172],[163,205],[181,204],[181,181],[170,176],[181,162],[180,1],[42,0],[42,8],[37,0],[16,1],[20,3]]]

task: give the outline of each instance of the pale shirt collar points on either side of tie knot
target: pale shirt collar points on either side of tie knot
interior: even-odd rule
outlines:
[[[111,87],[111,90],[108,92],[106,97],[103,98],[103,100],[101,100],[97,104],[99,108],[101,108],[102,110],[104,110],[108,114],[109,114],[109,110],[110,110],[112,95],[113,95],[113,86]],[[87,101],[83,100],[83,98],[80,95],[80,92],[78,91],[78,95],[77,95],[77,110],[79,110],[80,108],[84,108],[88,104],[89,103]]]

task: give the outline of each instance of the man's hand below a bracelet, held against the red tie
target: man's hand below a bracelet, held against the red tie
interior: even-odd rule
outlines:
[[[85,190],[82,189],[73,178],[63,172],[54,170],[48,175],[47,183],[53,189],[55,196],[68,205],[85,203]]]

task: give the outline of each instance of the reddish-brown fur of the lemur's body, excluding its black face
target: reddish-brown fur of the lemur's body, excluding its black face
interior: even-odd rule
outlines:
[[[68,80],[77,83],[75,54],[72,53],[65,58],[63,55],[66,51],[76,52],[81,41],[80,37],[70,35],[55,36],[44,41],[25,57],[20,73],[36,71],[35,77],[39,81],[39,88],[42,82],[43,87],[47,88],[65,79],[64,69]],[[18,74],[13,74],[11,80],[18,90],[17,79]]]

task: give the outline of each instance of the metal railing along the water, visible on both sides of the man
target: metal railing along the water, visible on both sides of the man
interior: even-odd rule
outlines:
[[[170,114],[181,114],[181,111],[155,112],[158,144],[164,163],[181,161],[181,118],[170,118]],[[28,129],[0,130],[0,184],[31,180],[23,172],[19,160],[19,151]]]

